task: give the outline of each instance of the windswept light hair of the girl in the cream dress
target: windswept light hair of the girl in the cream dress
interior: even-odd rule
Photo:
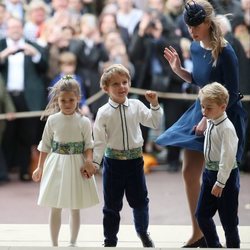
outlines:
[[[62,77],[53,87],[49,87],[49,103],[47,104],[41,120],[46,120],[48,116],[60,111],[58,97],[62,91],[74,92],[77,97],[81,97],[80,84],[71,75]],[[76,107],[76,112],[80,113],[79,104]]]

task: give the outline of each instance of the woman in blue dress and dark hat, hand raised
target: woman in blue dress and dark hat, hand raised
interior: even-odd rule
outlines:
[[[206,0],[188,1],[184,20],[193,38],[191,57],[193,71],[185,70],[173,47],[165,48],[164,56],[172,70],[184,81],[203,87],[217,81],[229,91],[227,115],[234,124],[239,138],[237,161],[240,162],[245,138],[246,112],[239,94],[238,60],[231,45],[224,39],[212,5]],[[205,247],[205,239],[195,219],[195,209],[200,192],[200,177],[204,166],[203,132],[206,118],[202,116],[200,102],[194,104],[180,119],[160,135],[156,143],[179,146],[184,149],[183,179],[192,219],[193,232],[184,247]]]

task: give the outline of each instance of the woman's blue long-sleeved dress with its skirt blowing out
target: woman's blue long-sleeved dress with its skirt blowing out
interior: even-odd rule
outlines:
[[[239,138],[237,161],[240,162],[244,150],[247,114],[240,100],[236,54],[231,45],[227,44],[220,53],[216,66],[213,66],[211,50],[204,49],[199,42],[192,42],[190,51],[193,61],[192,83],[203,87],[216,81],[223,84],[229,92],[230,98],[226,112]],[[196,99],[179,120],[156,139],[156,143],[161,146],[178,146],[203,152],[204,136],[197,136],[194,131],[194,126],[201,119],[200,101]]]

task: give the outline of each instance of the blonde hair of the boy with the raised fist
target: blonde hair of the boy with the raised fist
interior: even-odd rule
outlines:
[[[124,67],[122,64],[112,64],[108,68],[104,69],[103,74],[100,80],[100,87],[108,87],[110,83],[110,79],[114,75],[122,75],[128,78],[129,86],[131,86],[131,76],[129,70]]]

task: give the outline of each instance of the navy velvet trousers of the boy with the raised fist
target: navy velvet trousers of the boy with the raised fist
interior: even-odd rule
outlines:
[[[146,187],[144,161],[103,160],[103,227],[105,243],[116,245],[120,224],[120,211],[124,194],[133,209],[135,229],[138,234],[147,232],[149,223],[148,191]]]

